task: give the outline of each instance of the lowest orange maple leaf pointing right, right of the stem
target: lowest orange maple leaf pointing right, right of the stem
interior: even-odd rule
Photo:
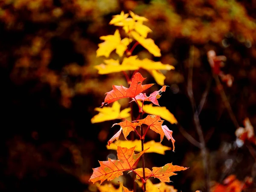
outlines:
[[[182,166],[174,166],[172,163],[167,163],[162,167],[153,167],[152,171],[148,168],[145,168],[145,177],[148,179],[149,177],[158,178],[161,182],[170,182],[170,178],[172,175],[177,175],[174,172],[183,171],[188,168]],[[137,179],[143,177],[143,168],[135,169],[137,173]]]

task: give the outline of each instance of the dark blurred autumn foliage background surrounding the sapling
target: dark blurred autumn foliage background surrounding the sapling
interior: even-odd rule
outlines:
[[[153,30],[149,38],[162,56],[154,58],[142,46],[134,54],[175,66],[165,73],[170,88],[159,99],[179,122],[167,124],[176,140],[175,152],[145,154],[146,166],[173,162],[190,167],[171,177],[173,186],[183,192],[203,189],[200,149],[178,128],[198,140],[186,91],[193,46],[197,105],[208,89],[199,117],[210,179],[221,183],[230,174],[255,179],[255,145],[249,151],[236,144],[236,126],[207,60],[209,50],[227,57],[221,70],[233,76],[232,86],[222,82],[228,101],[241,127],[246,117],[255,126],[255,9],[256,0],[1,0],[0,191],[95,191],[88,183],[92,168],[99,166],[98,160],[115,158],[116,151],[107,150],[106,144],[119,120],[91,124],[90,119],[112,84],[128,85],[122,73],[98,75],[93,67],[105,59],[96,58],[99,37],[113,34],[116,28],[108,23],[122,10],[148,18],[145,25]],[[116,53],[111,57],[117,58]],[[155,83],[146,71],[141,73],[147,83]],[[122,108],[127,106],[122,102]],[[159,141],[156,134],[148,138]],[[163,145],[172,144],[163,140]],[[120,179],[128,180],[126,176]]]

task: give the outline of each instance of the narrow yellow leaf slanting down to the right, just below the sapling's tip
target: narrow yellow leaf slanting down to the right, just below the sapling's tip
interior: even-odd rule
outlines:
[[[152,53],[155,57],[161,56],[161,50],[157,45],[154,43],[154,40],[151,38],[145,39],[136,31],[131,31],[132,37],[138,41],[145,49],[147,49],[150,53]]]

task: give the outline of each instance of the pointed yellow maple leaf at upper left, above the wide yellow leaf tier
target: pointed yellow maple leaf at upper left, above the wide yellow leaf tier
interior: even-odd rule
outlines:
[[[114,35],[101,36],[100,39],[105,42],[99,44],[99,48],[96,50],[96,56],[105,56],[107,58],[114,49],[116,49],[116,53],[119,57],[122,57],[128,44],[132,41],[130,38],[124,38],[121,40],[118,29],[116,29]]]

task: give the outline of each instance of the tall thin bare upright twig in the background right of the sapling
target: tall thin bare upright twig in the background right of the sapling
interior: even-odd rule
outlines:
[[[208,166],[208,160],[207,160],[207,149],[205,146],[205,141],[204,141],[204,135],[203,131],[200,125],[199,121],[199,116],[198,116],[198,111],[196,111],[195,107],[195,99],[193,95],[193,88],[192,88],[192,82],[193,82],[193,63],[194,63],[194,46],[192,46],[192,49],[190,50],[190,59],[189,59],[189,73],[188,73],[188,87],[187,87],[187,92],[188,96],[192,105],[193,109],[193,119],[195,123],[195,128],[198,133],[199,141],[201,143],[201,154],[203,158],[203,165],[204,165],[204,175],[205,175],[205,181],[206,181],[206,192],[209,192],[210,189],[210,179],[209,179],[209,166]]]

